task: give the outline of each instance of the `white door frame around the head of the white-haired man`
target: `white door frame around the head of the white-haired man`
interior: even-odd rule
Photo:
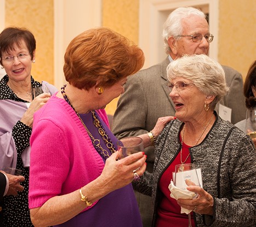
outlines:
[[[178,7],[196,7],[209,12],[209,27],[214,35],[209,56],[218,61],[218,0],[140,0],[139,46],[145,54],[144,68],[166,57],[163,49],[162,27],[169,13]]]

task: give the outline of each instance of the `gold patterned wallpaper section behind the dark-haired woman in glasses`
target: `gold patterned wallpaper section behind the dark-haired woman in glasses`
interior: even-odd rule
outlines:
[[[5,0],[5,27],[28,28],[36,38],[36,63],[32,76],[54,84],[53,0]]]

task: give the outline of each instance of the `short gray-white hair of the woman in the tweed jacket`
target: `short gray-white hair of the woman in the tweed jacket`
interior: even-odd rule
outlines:
[[[170,81],[176,77],[189,79],[203,94],[215,96],[209,104],[212,110],[229,91],[221,65],[204,54],[184,55],[170,62],[167,67],[167,78]]]

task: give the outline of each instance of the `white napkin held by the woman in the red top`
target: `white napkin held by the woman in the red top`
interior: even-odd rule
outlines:
[[[174,185],[173,181],[170,181],[170,184],[169,184],[168,188],[170,190],[170,197],[172,197],[175,200],[178,200],[178,199],[193,199],[193,197],[196,195],[192,191],[177,188]],[[190,210],[190,209],[186,209],[186,208],[181,207],[180,213],[189,214],[191,211],[192,210]]]

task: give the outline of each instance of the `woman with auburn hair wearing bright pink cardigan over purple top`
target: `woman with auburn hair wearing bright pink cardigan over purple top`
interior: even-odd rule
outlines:
[[[122,150],[116,152],[104,108],[143,64],[143,51],[108,28],[71,41],[67,84],[33,124],[29,207],[35,226],[142,226],[130,183],[145,171],[146,155],[122,158]],[[164,125],[156,124],[156,137]],[[148,135],[141,138],[150,145]]]

